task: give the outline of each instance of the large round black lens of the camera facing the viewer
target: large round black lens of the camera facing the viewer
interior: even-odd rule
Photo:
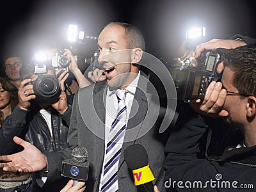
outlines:
[[[60,95],[58,79],[51,75],[39,76],[33,84],[33,90],[37,97],[44,99],[58,98]]]

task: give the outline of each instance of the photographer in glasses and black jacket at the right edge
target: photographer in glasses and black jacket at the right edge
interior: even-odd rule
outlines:
[[[208,147],[212,141],[205,142],[203,138],[212,118],[195,113],[192,108],[186,109],[165,148],[165,187],[170,191],[173,188],[178,191],[255,190],[256,47],[244,45],[230,49],[221,65],[221,82],[212,82],[208,94],[209,97],[218,95],[215,99],[219,102],[218,115],[227,126],[241,131],[243,139],[227,147],[220,156],[209,156],[204,145]]]

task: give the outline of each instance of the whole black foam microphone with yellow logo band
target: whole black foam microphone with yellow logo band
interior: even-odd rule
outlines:
[[[154,174],[148,165],[148,154],[140,144],[130,145],[124,150],[124,159],[129,169],[132,170],[134,185],[143,184],[147,192],[154,192],[152,180]]]

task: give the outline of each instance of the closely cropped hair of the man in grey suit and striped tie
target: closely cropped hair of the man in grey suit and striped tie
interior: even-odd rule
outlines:
[[[145,51],[145,40],[140,29],[125,22],[109,22],[106,26],[109,25],[118,25],[124,28],[125,37],[127,39],[127,49],[141,48],[142,51]]]

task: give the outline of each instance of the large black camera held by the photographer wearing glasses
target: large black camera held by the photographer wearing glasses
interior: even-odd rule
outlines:
[[[197,60],[176,58],[176,62],[168,70],[176,86],[177,99],[204,99],[208,85],[212,81],[221,80],[222,74],[218,74],[216,70],[227,50],[205,50]]]

